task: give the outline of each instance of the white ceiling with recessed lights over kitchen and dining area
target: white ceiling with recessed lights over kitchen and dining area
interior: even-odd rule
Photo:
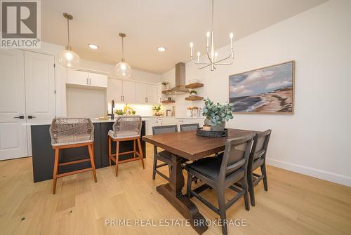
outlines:
[[[216,0],[215,46],[230,43],[230,32],[238,40],[325,1]],[[42,41],[67,45],[64,12],[73,15],[69,24],[71,46],[82,59],[112,65],[120,62],[118,34],[124,32],[126,62],[156,74],[172,69],[177,62],[190,60],[191,41],[194,51],[201,51],[211,27],[209,0],[43,0]],[[95,43],[100,49],[93,51],[88,43]],[[165,46],[167,51],[160,53],[158,46]]]

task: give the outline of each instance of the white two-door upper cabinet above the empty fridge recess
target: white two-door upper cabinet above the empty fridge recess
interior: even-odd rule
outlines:
[[[67,83],[107,88],[107,75],[79,70],[67,70]]]

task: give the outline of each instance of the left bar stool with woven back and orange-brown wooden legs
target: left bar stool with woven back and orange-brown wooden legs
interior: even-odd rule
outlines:
[[[91,119],[86,118],[55,118],[50,126],[51,145],[55,149],[55,163],[53,166],[53,194],[56,192],[56,181],[58,177],[67,175],[74,175],[91,170],[95,182],[95,163],[93,156],[93,142],[94,142],[94,126]],[[59,163],[60,149],[69,149],[75,147],[87,146],[89,152],[88,159],[81,159],[76,161],[67,161]],[[85,161],[91,162],[91,168],[84,168],[81,170],[73,170],[67,173],[59,173],[60,166],[67,166],[71,164],[81,163]]]

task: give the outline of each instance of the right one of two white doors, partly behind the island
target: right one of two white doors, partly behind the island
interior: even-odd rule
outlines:
[[[55,117],[54,57],[25,51],[27,122],[49,122]]]

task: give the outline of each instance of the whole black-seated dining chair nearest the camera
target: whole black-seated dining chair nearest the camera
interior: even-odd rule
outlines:
[[[227,220],[227,208],[230,208],[241,196],[244,196],[245,208],[246,210],[250,210],[246,174],[252,141],[253,135],[228,139],[225,144],[223,159],[207,157],[185,166],[185,170],[188,173],[187,196],[189,198],[195,196],[199,201],[220,215],[220,220],[223,221],[223,234],[227,234],[227,223],[225,222]],[[204,185],[194,190],[191,189],[192,176],[199,178],[204,184],[216,190],[219,208],[216,208],[198,194],[203,191]],[[235,182],[241,182],[243,187],[234,186]],[[225,203],[225,189],[227,188],[237,192],[237,195]]]

